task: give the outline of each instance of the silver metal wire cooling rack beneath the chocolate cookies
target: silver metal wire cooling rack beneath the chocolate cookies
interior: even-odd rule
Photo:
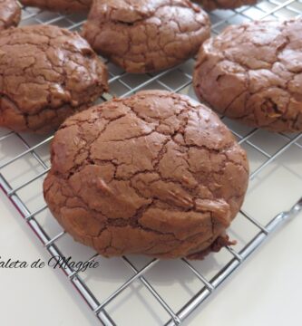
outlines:
[[[302,2],[295,0],[262,1],[235,11],[217,10],[210,14],[212,33],[219,34],[228,24],[301,13]],[[56,24],[79,30],[84,19],[82,14],[62,15],[24,7],[22,24]],[[132,75],[108,63],[111,93],[100,101],[142,89],[177,91],[195,98],[191,87],[193,64],[189,60],[165,72]],[[74,243],[51,216],[42,195],[53,136],[42,138],[0,129],[0,186],[52,256],[99,261],[96,270],[83,272],[67,266],[63,272],[103,324],[180,324],[278,225],[301,210],[302,134],[272,134],[240,126],[224,117],[222,120],[248,152],[250,184],[245,204],[229,228],[229,235],[238,244],[219,254],[209,254],[202,262],[160,261],[141,256],[105,259],[91,248]],[[268,205],[264,206],[264,202]],[[127,313],[133,305],[141,312],[141,320],[137,314]]]

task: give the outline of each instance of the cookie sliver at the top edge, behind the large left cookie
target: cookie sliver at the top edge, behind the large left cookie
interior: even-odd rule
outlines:
[[[93,0],[20,0],[20,2],[23,5],[68,13],[88,11],[93,4]]]

